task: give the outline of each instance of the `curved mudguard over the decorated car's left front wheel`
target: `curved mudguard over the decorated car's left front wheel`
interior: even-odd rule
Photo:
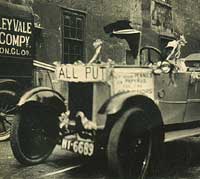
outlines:
[[[51,107],[60,113],[66,110],[65,98],[57,91],[47,87],[36,87],[27,91],[20,98],[17,106],[21,108],[33,102]]]

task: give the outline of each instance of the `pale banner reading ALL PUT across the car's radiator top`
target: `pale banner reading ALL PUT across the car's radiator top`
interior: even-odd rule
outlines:
[[[87,82],[105,81],[106,68],[95,65],[61,65],[57,67],[56,76],[58,80]]]

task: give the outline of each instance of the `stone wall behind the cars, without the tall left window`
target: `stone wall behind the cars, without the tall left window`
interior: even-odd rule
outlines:
[[[3,1],[3,0],[2,0]],[[4,0],[6,1],[6,0]],[[7,0],[12,3],[32,6],[39,15],[44,29],[38,30],[37,58],[52,63],[62,60],[62,8],[84,11],[85,61],[93,53],[92,42],[100,38],[104,41],[103,59],[111,58],[117,62],[125,58],[127,44],[123,40],[110,38],[103,27],[116,20],[128,19],[132,26],[141,30],[142,45],[161,47],[160,36],[173,37],[174,32],[183,33],[188,41],[182,54],[200,50],[200,1],[193,0]],[[155,6],[156,2],[163,2]],[[172,2],[171,7],[163,6]],[[171,10],[170,10],[171,9]],[[171,13],[172,12],[172,13]],[[173,20],[171,20],[173,17]]]

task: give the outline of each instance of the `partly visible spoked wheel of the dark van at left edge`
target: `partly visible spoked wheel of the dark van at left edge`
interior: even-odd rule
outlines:
[[[0,91],[0,141],[9,139],[13,120],[11,112],[17,103],[16,94],[12,91]]]

